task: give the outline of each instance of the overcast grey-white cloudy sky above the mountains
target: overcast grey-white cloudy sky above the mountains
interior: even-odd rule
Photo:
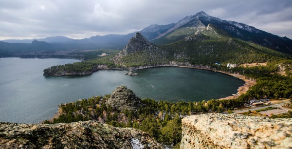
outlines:
[[[292,39],[292,0],[0,0],[0,40],[128,34],[200,11]]]

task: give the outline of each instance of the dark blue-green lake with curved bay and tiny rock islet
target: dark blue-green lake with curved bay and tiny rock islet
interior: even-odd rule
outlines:
[[[127,86],[140,98],[202,101],[237,93],[243,80],[218,72],[157,67],[128,71],[99,70],[86,76],[43,76],[43,69],[76,59],[0,58],[0,121],[40,123],[52,118],[58,105],[91,96],[110,94]]]

